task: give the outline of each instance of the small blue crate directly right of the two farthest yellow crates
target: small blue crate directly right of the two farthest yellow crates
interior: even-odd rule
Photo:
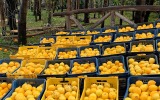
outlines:
[[[111,36],[111,40],[108,42],[94,42],[95,39],[97,39],[98,37],[105,37],[105,36]],[[108,34],[97,34],[93,36],[93,41],[91,42],[91,44],[95,45],[95,44],[110,44],[113,41],[113,33],[108,33]]]

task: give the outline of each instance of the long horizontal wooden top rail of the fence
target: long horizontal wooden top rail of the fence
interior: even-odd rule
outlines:
[[[111,10],[116,11],[160,11],[160,6],[153,5],[138,5],[138,6],[111,6],[111,7],[103,7],[103,8],[88,8],[88,9],[78,9],[66,12],[54,13],[53,16],[62,16],[62,15],[72,15],[79,13],[94,13],[94,12],[106,12]]]

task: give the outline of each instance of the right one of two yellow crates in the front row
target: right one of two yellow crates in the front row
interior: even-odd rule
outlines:
[[[117,91],[117,98],[116,100],[119,100],[119,96],[118,96],[118,91],[119,91],[119,82],[118,82],[118,78],[116,77],[105,77],[105,78],[102,78],[102,77],[90,77],[90,78],[85,78],[84,79],[84,89],[83,89],[83,92],[82,92],[82,95],[81,95],[81,99],[80,100],[84,100],[84,97],[85,97],[85,91],[87,90],[87,88],[89,88],[92,84],[104,84],[104,83],[110,83],[111,86],[113,88],[115,88]]]

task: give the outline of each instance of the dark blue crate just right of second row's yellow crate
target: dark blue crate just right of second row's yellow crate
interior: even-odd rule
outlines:
[[[45,66],[45,69],[48,68],[49,64],[53,64],[53,65],[54,65],[55,63],[61,63],[61,62],[63,62],[64,64],[67,64],[69,67],[71,67],[72,60],[50,60],[50,61],[47,61],[46,66]],[[40,75],[38,75],[38,77],[40,77],[40,78],[46,78],[46,77],[65,77],[65,76],[69,73],[69,71],[68,71],[68,72],[65,73],[65,74],[45,75],[45,74],[44,74],[44,70],[45,70],[45,69],[43,69],[43,71],[41,72]]]

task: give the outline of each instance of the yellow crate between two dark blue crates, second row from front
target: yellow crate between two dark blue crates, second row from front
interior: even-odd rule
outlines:
[[[44,70],[45,65],[46,65],[46,60],[44,60],[44,59],[29,59],[29,60],[23,60],[20,68],[25,67],[25,65],[27,63],[30,63],[30,62],[44,65],[43,70]],[[37,74],[35,74],[35,73],[26,74],[26,75],[21,75],[21,74],[16,73],[19,69],[17,69],[13,74],[9,74],[7,77],[11,77],[11,78],[36,78],[37,77]]]

